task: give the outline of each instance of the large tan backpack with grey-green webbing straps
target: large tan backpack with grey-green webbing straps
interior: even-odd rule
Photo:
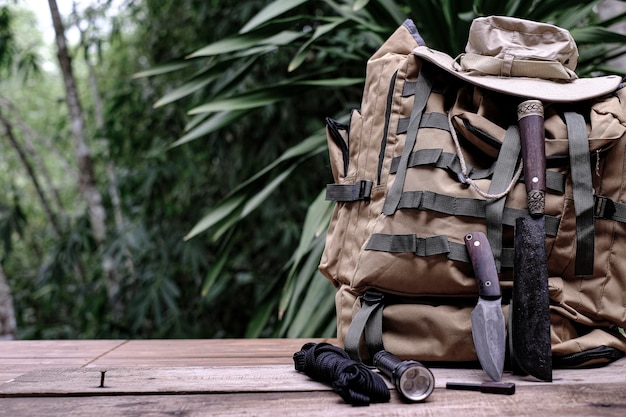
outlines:
[[[368,60],[349,123],[326,120],[335,208],[319,269],[337,288],[338,341],[364,361],[382,348],[476,361],[463,237],[489,237],[508,317],[513,226],[528,213],[519,98],[415,56],[424,45],[407,19]],[[547,103],[545,130],[553,365],[608,363],[626,352],[626,91]]]

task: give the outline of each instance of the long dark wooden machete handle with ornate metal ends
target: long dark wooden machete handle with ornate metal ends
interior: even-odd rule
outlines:
[[[526,100],[517,106],[517,120],[522,142],[524,178],[528,195],[528,211],[541,216],[545,210],[546,145],[543,104]]]

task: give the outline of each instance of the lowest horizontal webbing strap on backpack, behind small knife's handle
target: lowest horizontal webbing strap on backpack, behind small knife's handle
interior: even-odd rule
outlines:
[[[445,255],[451,261],[470,262],[465,245],[450,242],[443,235],[420,238],[414,234],[386,235],[376,233],[370,237],[365,249],[391,253],[412,253],[422,257]],[[500,256],[502,267],[513,268],[513,256],[513,248],[503,248]]]

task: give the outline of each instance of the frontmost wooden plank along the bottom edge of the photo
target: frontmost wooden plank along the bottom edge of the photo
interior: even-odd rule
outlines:
[[[428,415],[481,417],[623,417],[626,384],[554,385],[546,390],[525,386],[512,396],[436,389],[425,403],[390,403],[352,407],[333,392],[274,392],[242,394],[4,398],[3,414],[12,417],[152,416],[384,416]]]

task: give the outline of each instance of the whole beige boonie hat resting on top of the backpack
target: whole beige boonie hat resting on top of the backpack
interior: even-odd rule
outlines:
[[[581,101],[615,91],[621,77],[578,78],[578,48],[568,30],[514,17],[474,19],[457,58],[419,46],[413,53],[474,85],[551,102]]]

